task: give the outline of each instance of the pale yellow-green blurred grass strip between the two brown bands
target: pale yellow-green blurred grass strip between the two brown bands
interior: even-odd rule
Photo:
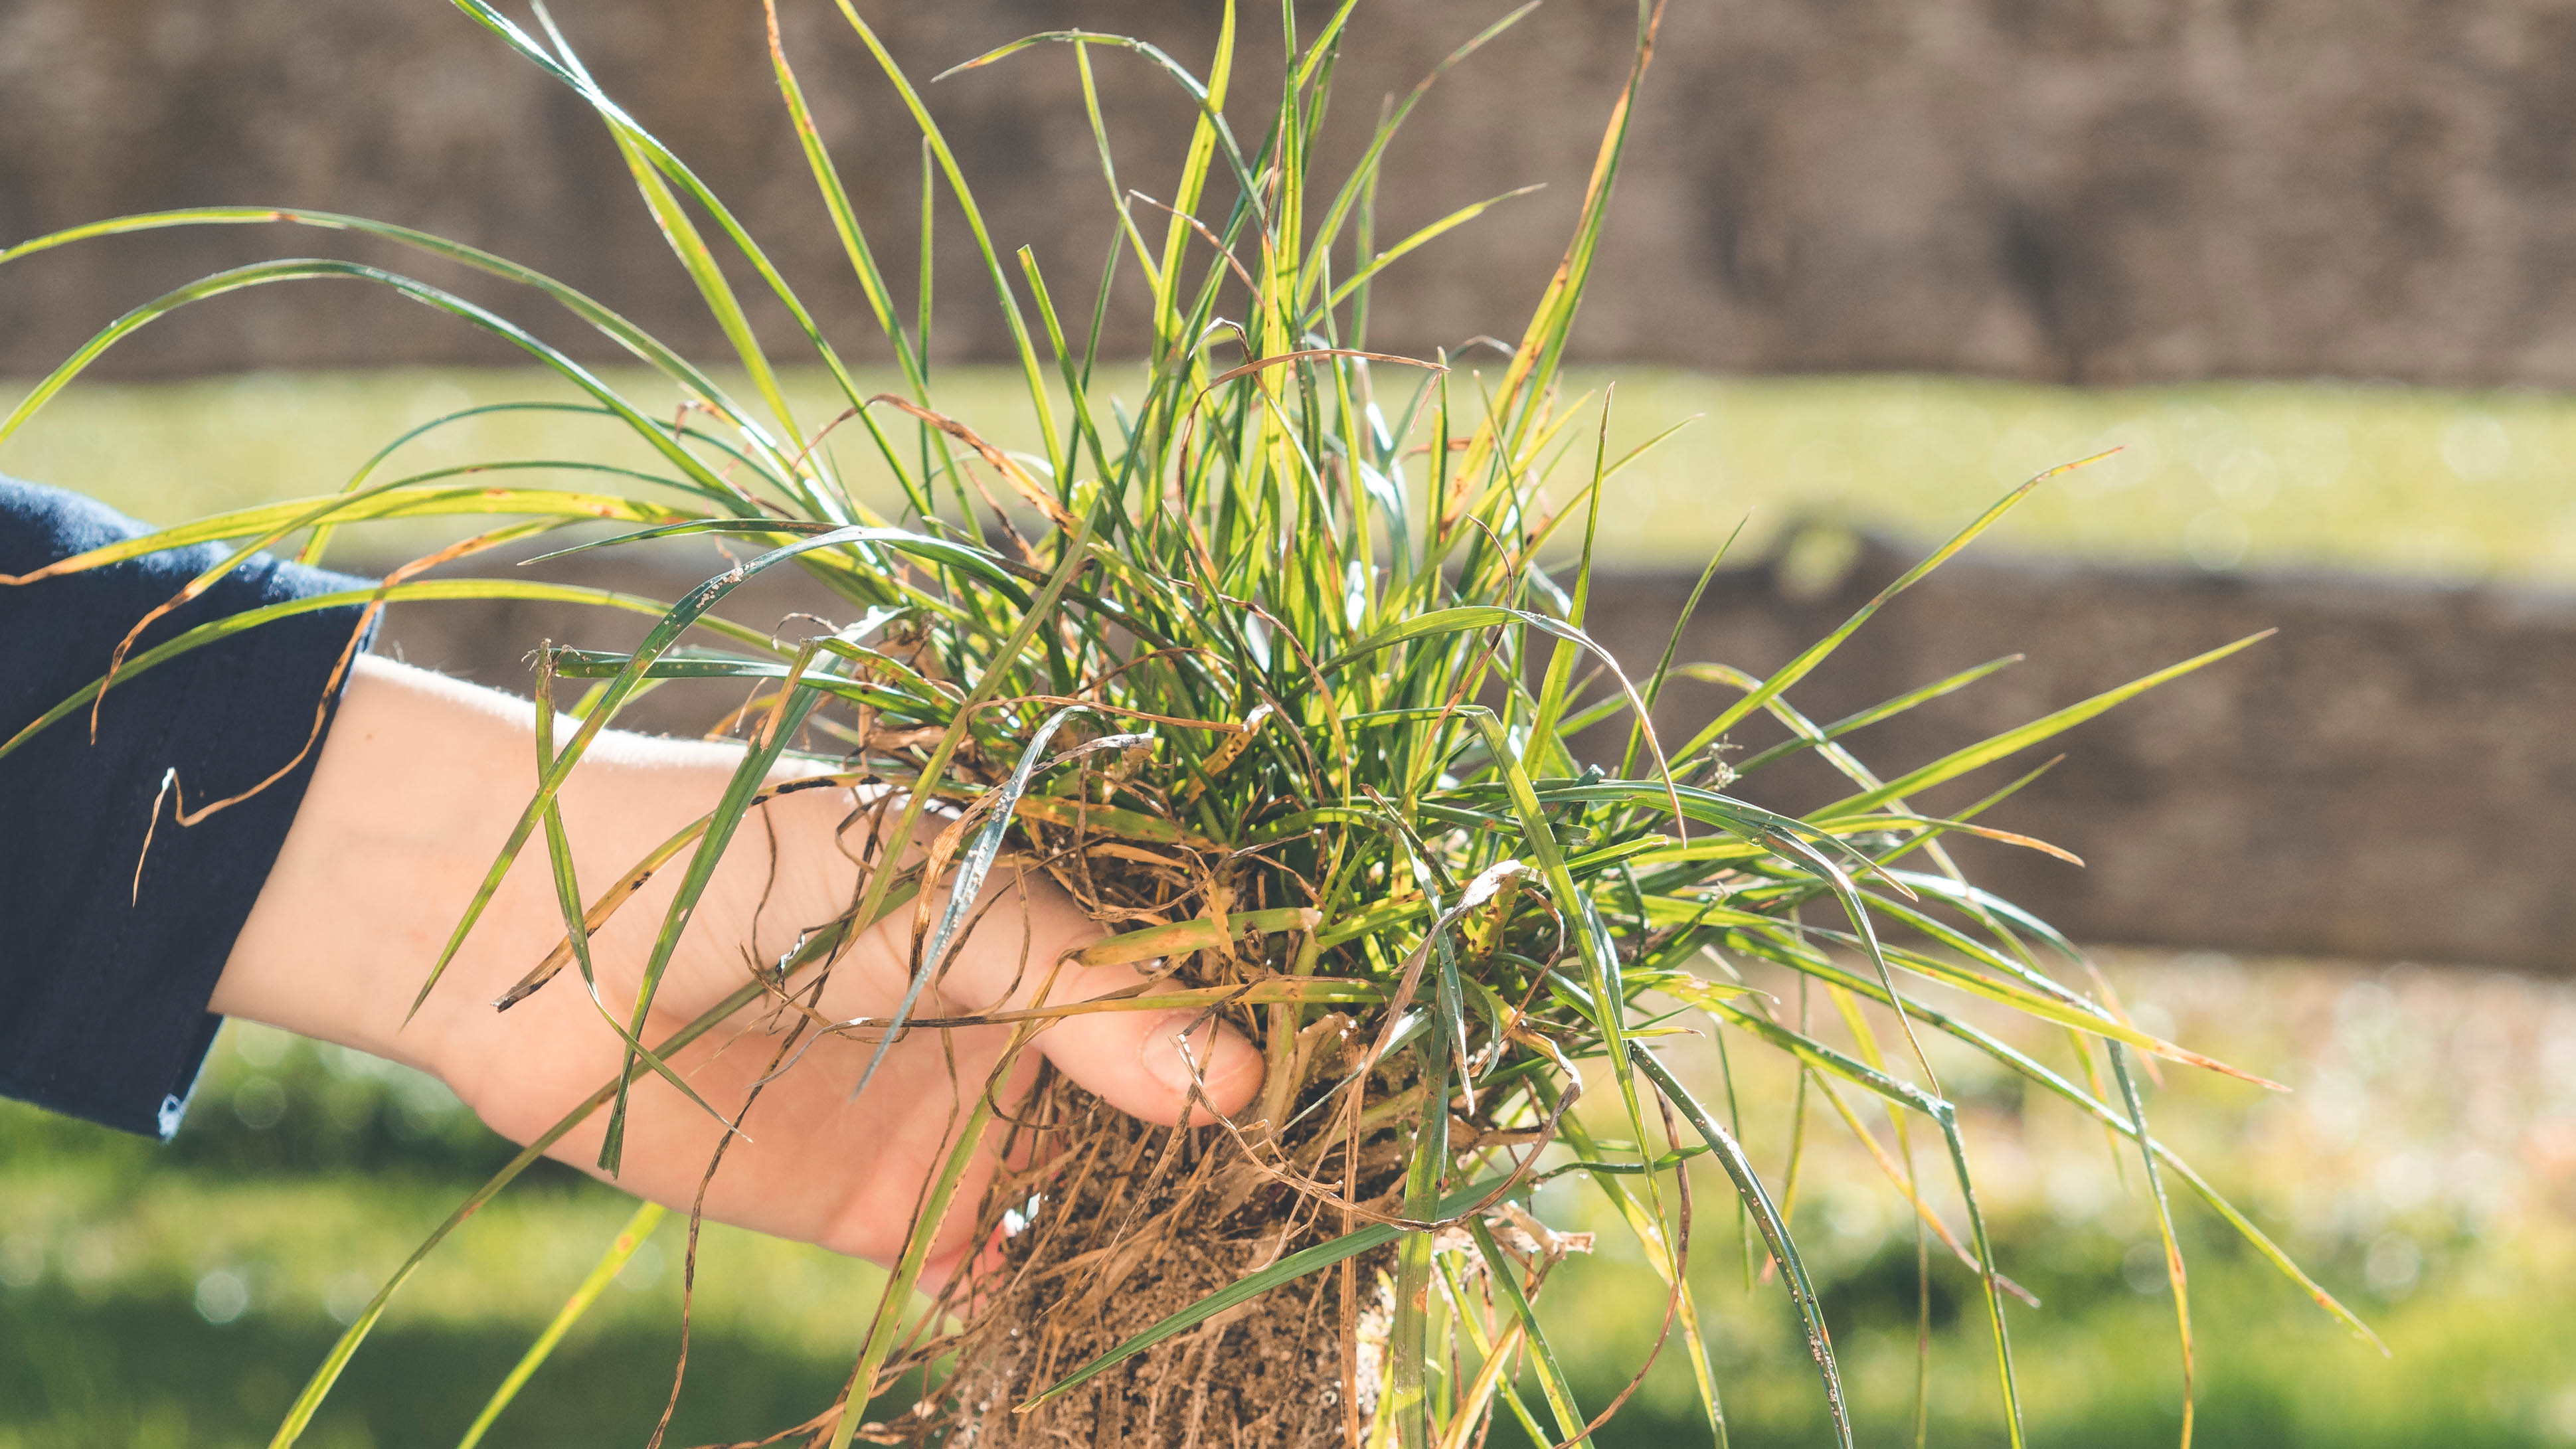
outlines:
[[[1461,368],[1479,363],[1463,358]],[[641,373],[605,376],[639,401],[665,396]],[[943,378],[940,396],[966,417],[1028,414],[1015,368],[956,368]],[[1592,371],[1574,381],[1597,389],[1610,378]],[[1602,510],[1605,556],[1625,566],[1698,569],[1747,515],[1749,548],[1806,515],[1947,538],[2025,476],[2120,448],[2040,489],[1989,548],[2576,584],[2576,399],[2558,394],[2367,383],[2053,389],[1649,368],[1618,368],[1615,378],[1613,453],[1682,425]],[[15,391],[0,386],[0,399]],[[819,373],[791,373],[788,394],[809,430],[842,407]],[[337,489],[404,427],[464,407],[569,396],[551,373],[469,368],[82,383],[0,445],[0,471],[175,522]],[[412,443],[394,463],[600,458],[613,432],[595,420],[487,414]],[[1020,448],[1033,438],[997,443]],[[1589,435],[1579,440],[1589,445]],[[871,476],[855,427],[832,448],[853,476]],[[647,463],[641,450],[634,461]]]

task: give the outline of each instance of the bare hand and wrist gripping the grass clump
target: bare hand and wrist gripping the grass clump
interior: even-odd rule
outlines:
[[[541,842],[520,854],[484,921],[404,1024],[412,996],[456,927],[536,788],[533,705],[384,659],[361,659],[312,788],[276,870],[242,927],[214,993],[229,1017],[353,1045],[435,1073],[497,1132],[531,1140],[621,1066],[616,1029],[574,970],[513,1006],[497,999],[564,937]],[[562,739],[564,731],[559,731]],[[739,749],[605,731],[562,793],[582,893],[626,875],[724,793]],[[791,770],[793,772],[793,770]],[[858,865],[835,842],[855,800],[845,788],[781,795],[755,813],[719,865],[654,996],[659,1040],[773,963],[799,932],[848,911]],[[775,857],[770,852],[775,839]],[[685,852],[680,857],[685,862]],[[657,872],[595,937],[600,1001],[623,1022],[680,862]],[[1025,1001],[1046,970],[1100,929],[1048,880],[989,888],[979,927],[958,947],[917,1014],[981,1011]],[[832,968],[819,1009],[832,1019],[889,1014],[907,975],[909,914],[866,932]],[[1066,965],[1051,1001],[1136,981],[1131,968]],[[1175,1032],[1185,1014],[1100,1011],[1038,1035],[1038,1050],[1077,1084],[1146,1120],[1170,1122],[1188,1094]],[[768,1071],[778,1037],[768,1011],[744,1011],[675,1058],[690,1086],[734,1114]],[[845,1253],[899,1251],[914,1194],[935,1171],[951,1107],[971,1102],[999,1060],[1002,1027],[914,1032],[889,1055],[866,1096],[850,1086],[871,1042],[829,1037],[773,1081],[734,1143],[706,1210],[714,1217],[809,1238]],[[1234,1032],[1190,1042],[1208,1096],[1239,1109],[1260,1086],[1260,1055]],[[951,1073],[953,1060],[953,1073]],[[1036,1071],[1023,1060],[1010,1091]],[[1007,1096],[1005,1096],[1007,1099]],[[605,1114],[559,1148],[590,1166]],[[634,1089],[621,1186],[685,1207],[721,1127],[670,1084]],[[969,1184],[971,1189],[974,1184]],[[951,1251],[956,1243],[951,1246]]]

